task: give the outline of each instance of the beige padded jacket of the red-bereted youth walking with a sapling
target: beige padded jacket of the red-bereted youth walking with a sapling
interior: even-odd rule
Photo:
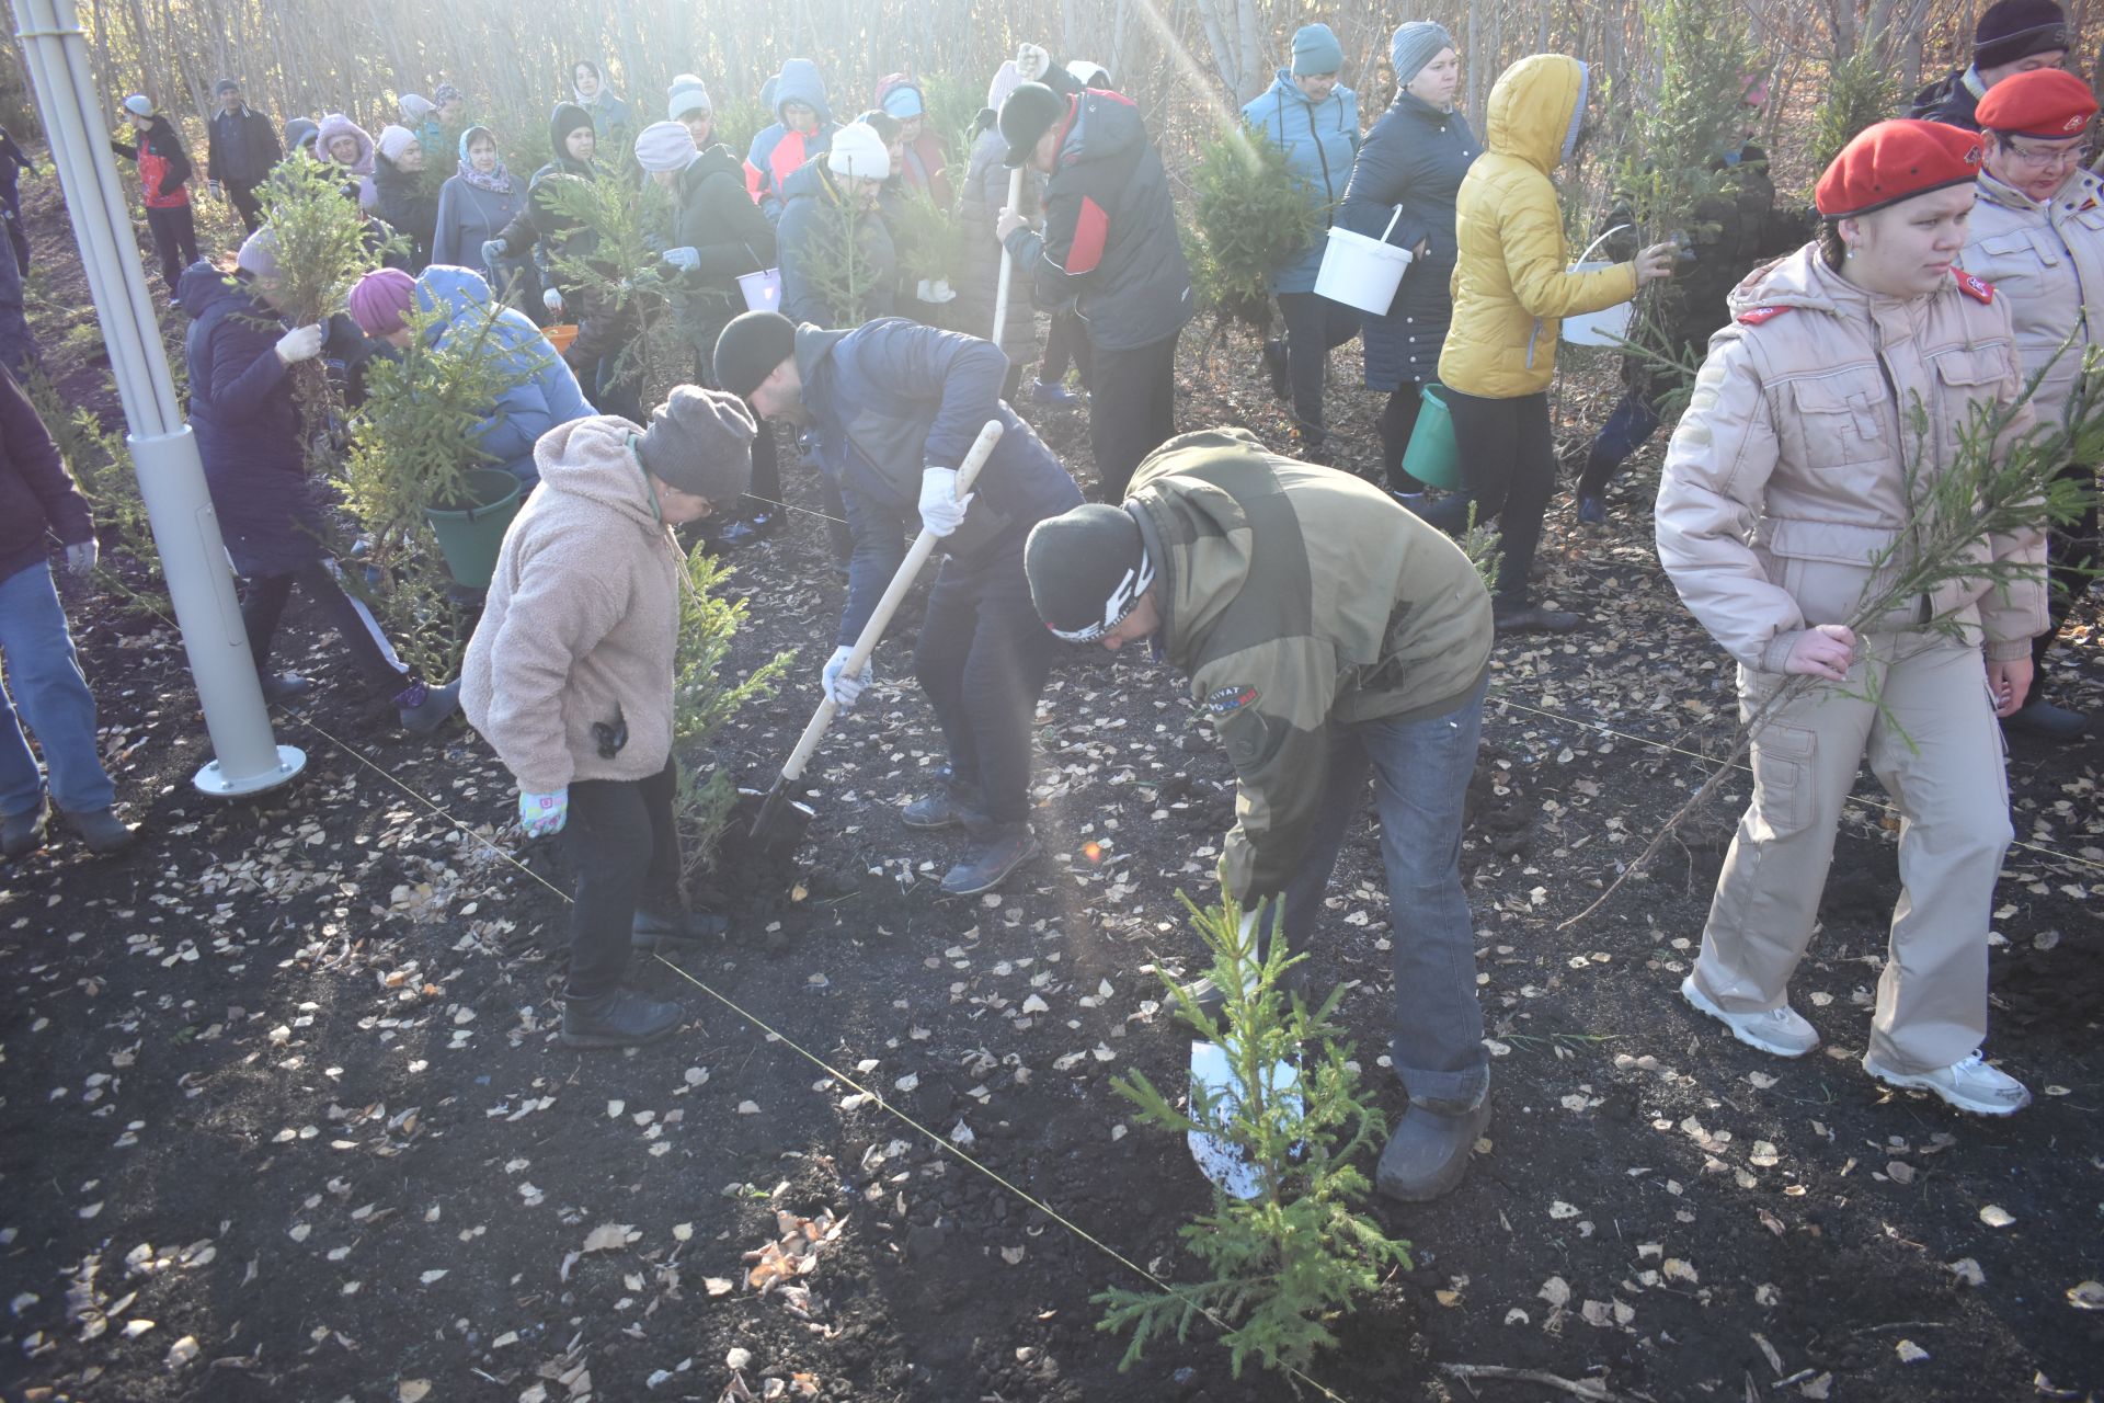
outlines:
[[[1780,673],[1795,635],[1847,623],[1959,450],[1974,406],[2022,391],[2009,311],[1957,273],[1917,299],[1873,297],[1816,246],[1755,269],[1711,339],[1658,484],[1658,557],[1681,602],[1746,667]],[[1915,406],[1927,433],[1913,446]],[[1904,408],[1902,408],[1904,406]],[[2028,406],[2003,446],[2030,427]],[[1919,456],[1908,501],[1906,456]],[[1980,541],[1976,560],[2041,566],[2045,524]],[[1957,618],[1990,658],[2030,656],[2045,581],[1950,581],[1870,631]]]

